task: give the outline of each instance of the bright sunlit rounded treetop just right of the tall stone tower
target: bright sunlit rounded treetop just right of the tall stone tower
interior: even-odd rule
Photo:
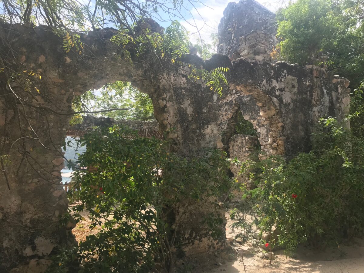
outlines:
[[[277,37],[281,58],[290,63],[312,63],[327,48],[338,17],[329,0],[298,0],[278,13]]]

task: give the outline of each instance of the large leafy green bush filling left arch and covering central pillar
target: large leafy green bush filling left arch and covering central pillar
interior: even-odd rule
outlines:
[[[59,270],[75,261],[82,265],[79,272],[150,272],[155,264],[169,269],[189,209],[216,206],[211,197],[232,185],[220,150],[185,158],[169,153],[167,142],[119,127],[96,129],[79,142],[87,150],[79,157],[70,198],[81,201],[74,212],[87,210],[91,228],[102,229],[72,253],[58,254]],[[188,206],[182,209],[182,203]],[[222,221],[212,209],[201,225],[221,236],[215,227]]]

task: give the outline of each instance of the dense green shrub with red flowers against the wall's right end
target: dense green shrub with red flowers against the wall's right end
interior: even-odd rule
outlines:
[[[288,252],[306,242],[339,247],[343,238],[363,233],[364,141],[335,118],[321,119],[311,152],[288,162],[277,156],[249,161],[243,171],[258,186],[245,190],[244,198],[261,216],[261,230],[277,226],[272,246]]]

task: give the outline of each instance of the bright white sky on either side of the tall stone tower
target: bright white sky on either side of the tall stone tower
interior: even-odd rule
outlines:
[[[286,7],[289,0],[256,0],[272,12],[278,8]],[[211,33],[217,33],[218,24],[222,18],[222,13],[229,2],[238,2],[232,0],[201,0],[202,4],[196,5],[196,9],[191,9],[193,15],[187,17],[187,21],[180,20],[181,24],[190,32],[190,40],[194,42],[196,37],[201,35],[207,43],[211,41]],[[194,19],[193,19],[194,18]],[[196,25],[197,28],[192,25]]]

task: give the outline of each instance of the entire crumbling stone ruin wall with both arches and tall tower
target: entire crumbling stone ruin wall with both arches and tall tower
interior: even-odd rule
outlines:
[[[344,118],[350,100],[349,82],[324,68],[267,61],[267,37],[270,42],[275,33],[273,21],[274,15],[252,0],[230,3],[220,24],[219,39],[220,45],[233,39],[234,50],[227,52],[229,56],[216,54],[208,60],[186,56],[186,62],[207,70],[230,69],[226,73],[229,87],[221,97],[212,94],[203,82],[191,82],[178,72],[158,78],[150,74],[146,64],[136,62],[131,66],[114,58],[118,48],[110,43],[110,36],[103,36],[107,32],[81,35],[86,50],[98,56],[88,58],[73,52],[66,54],[62,41],[44,26],[33,29],[1,25],[1,37],[10,39],[9,44],[0,46],[2,56],[12,58],[7,54],[11,48],[21,64],[42,75],[40,94],[29,96],[27,106],[21,107],[11,92],[21,94],[21,87],[13,84],[10,88],[7,75],[0,74],[1,149],[10,154],[12,162],[6,177],[3,172],[0,178],[0,264],[5,272],[44,272],[53,250],[74,243],[74,224],[59,226],[59,215],[68,205],[59,184],[61,146],[69,129],[67,113],[72,112],[72,100],[92,88],[123,80],[149,94],[159,133],[165,134],[171,149],[181,154],[194,155],[203,147],[218,147],[245,160],[248,151],[242,152],[244,146],[249,147],[250,138],[234,135],[237,111],[253,123],[263,156],[282,154],[290,158],[309,151],[310,133],[318,118]],[[268,35],[261,34],[264,32]],[[262,49],[254,50],[251,43]],[[104,62],[105,58],[108,62]],[[37,138],[23,138],[34,136],[33,131]],[[208,211],[197,206],[184,220],[181,238],[187,256],[199,257],[227,247],[224,224],[222,237],[210,240],[209,230],[201,222]],[[223,212],[221,207],[222,216]]]

